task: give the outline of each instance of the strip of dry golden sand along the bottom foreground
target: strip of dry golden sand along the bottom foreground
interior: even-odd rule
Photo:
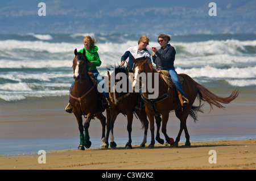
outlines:
[[[210,150],[216,163],[209,163]],[[0,169],[166,170],[166,169],[256,169],[256,140],[192,142],[189,147],[156,145],[154,149],[89,149],[40,155],[0,157]],[[212,159],[210,159],[212,160]]]

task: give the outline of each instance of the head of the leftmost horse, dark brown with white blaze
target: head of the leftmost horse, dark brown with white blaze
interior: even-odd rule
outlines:
[[[82,53],[77,52],[75,49],[75,58],[73,59],[73,71],[74,76],[73,78],[75,81],[83,80],[87,76],[87,65],[88,59],[85,57],[85,50]]]

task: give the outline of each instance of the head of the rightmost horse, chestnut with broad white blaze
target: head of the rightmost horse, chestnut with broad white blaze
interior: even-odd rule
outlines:
[[[141,73],[147,73],[147,69],[150,68],[149,64],[148,64],[148,58],[146,58],[146,60],[135,60],[135,58],[133,59],[134,61],[134,69],[133,69],[133,73],[134,73],[134,79],[133,79],[133,89],[135,91],[138,91],[138,87],[141,86],[139,85],[140,78],[142,78]]]

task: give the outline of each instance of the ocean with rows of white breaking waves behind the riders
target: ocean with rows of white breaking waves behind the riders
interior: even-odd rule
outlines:
[[[73,52],[83,48],[85,35],[98,39],[102,61],[98,70],[102,75],[106,75],[108,64],[119,64],[122,54],[137,45],[141,36],[0,35],[0,102],[68,95],[73,81]],[[158,35],[147,36],[151,39],[148,49],[159,48]],[[188,74],[206,87],[255,90],[256,35],[172,35],[171,44],[176,49],[177,73]]]

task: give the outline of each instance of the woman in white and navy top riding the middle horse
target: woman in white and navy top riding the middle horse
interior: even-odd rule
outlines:
[[[123,54],[121,57],[121,65],[125,64],[125,60],[129,57],[129,71],[133,71],[134,69],[134,61],[133,58],[136,60],[146,60],[148,58],[148,63],[151,63],[151,54],[147,50],[147,45],[150,43],[150,39],[146,36],[143,35],[139,41],[138,41],[138,46],[135,47],[130,47],[126,50],[126,52]],[[141,90],[140,90],[141,94]],[[135,109],[140,110],[144,106],[144,101],[141,98],[141,105],[135,106]]]

